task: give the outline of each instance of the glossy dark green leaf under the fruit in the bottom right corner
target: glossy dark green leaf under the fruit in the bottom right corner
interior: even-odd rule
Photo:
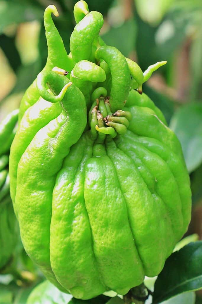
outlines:
[[[201,269],[202,241],[190,243],[171,254],[155,282],[153,304],[202,288]]]

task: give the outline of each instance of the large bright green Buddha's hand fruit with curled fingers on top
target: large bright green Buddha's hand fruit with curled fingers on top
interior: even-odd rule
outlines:
[[[161,271],[187,230],[191,194],[177,137],[140,95],[165,62],[143,73],[99,39],[99,13],[82,1],[75,16],[70,80],[59,64],[38,75],[10,178],[26,252],[59,289],[90,299]]]

